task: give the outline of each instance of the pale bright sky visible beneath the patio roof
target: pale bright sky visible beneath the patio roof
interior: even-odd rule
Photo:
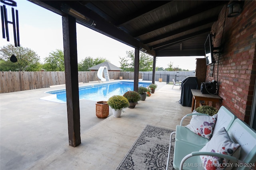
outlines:
[[[30,48],[40,56],[41,62],[49,56],[49,53],[61,49],[63,51],[62,37],[62,17],[54,12],[46,10],[32,2],[26,0],[15,0],[16,10],[19,14],[20,45]],[[1,3],[1,5],[3,5]],[[8,14],[11,7],[6,6]],[[8,15],[8,21],[10,15]],[[12,25],[8,24],[10,41],[0,37],[0,47],[11,43],[14,45]],[[1,26],[2,29],[2,26]],[[120,67],[120,59],[126,57],[126,51],[134,51],[134,48],[116,41],[106,35],[98,33],[83,25],[76,24],[77,29],[77,51],[78,62],[85,57],[102,57],[108,59],[110,63]],[[195,70],[197,57],[157,57],[156,66],[168,68],[172,62],[173,66],[182,69]]]

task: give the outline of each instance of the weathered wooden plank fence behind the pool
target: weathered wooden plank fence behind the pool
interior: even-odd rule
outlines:
[[[65,84],[65,72],[63,71],[37,71],[37,72],[0,72],[0,93],[17,92],[38,88],[48,88],[54,85]],[[110,79],[119,79],[119,71],[108,72]],[[130,74],[134,74],[130,72]],[[131,77],[131,76],[127,76]],[[124,77],[126,78],[126,77]],[[126,78],[128,79],[128,78]],[[78,82],[88,83],[97,81],[97,71],[78,72]]]

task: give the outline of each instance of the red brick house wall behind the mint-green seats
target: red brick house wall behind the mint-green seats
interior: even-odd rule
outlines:
[[[216,62],[207,66],[206,82],[218,80],[218,95],[223,100],[217,108],[223,105],[249,123],[256,78],[256,1],[245,1],[237,17],[227,15],[224,6],[212,26],[214,47],[222,44],[223,50],[214,54]]]

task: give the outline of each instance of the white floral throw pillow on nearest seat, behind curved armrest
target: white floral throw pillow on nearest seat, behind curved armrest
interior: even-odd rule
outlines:
[[[234,156],[237,159],[240,157],[241,147],[230,139],[226,129],[222,127],[212,139],[200,150],[201,152],[216,152]],[[231,170],[232,167],[228,166],[229,160],[219,158],[217,156],[200,156],[202,165],[205,170]]]

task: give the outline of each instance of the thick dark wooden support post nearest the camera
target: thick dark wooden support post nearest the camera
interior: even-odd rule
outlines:
[[[68,111],[68,140],[70,146],[76,147],[81,143],[76,19],[72,16],[62,16],[62,29]]]

